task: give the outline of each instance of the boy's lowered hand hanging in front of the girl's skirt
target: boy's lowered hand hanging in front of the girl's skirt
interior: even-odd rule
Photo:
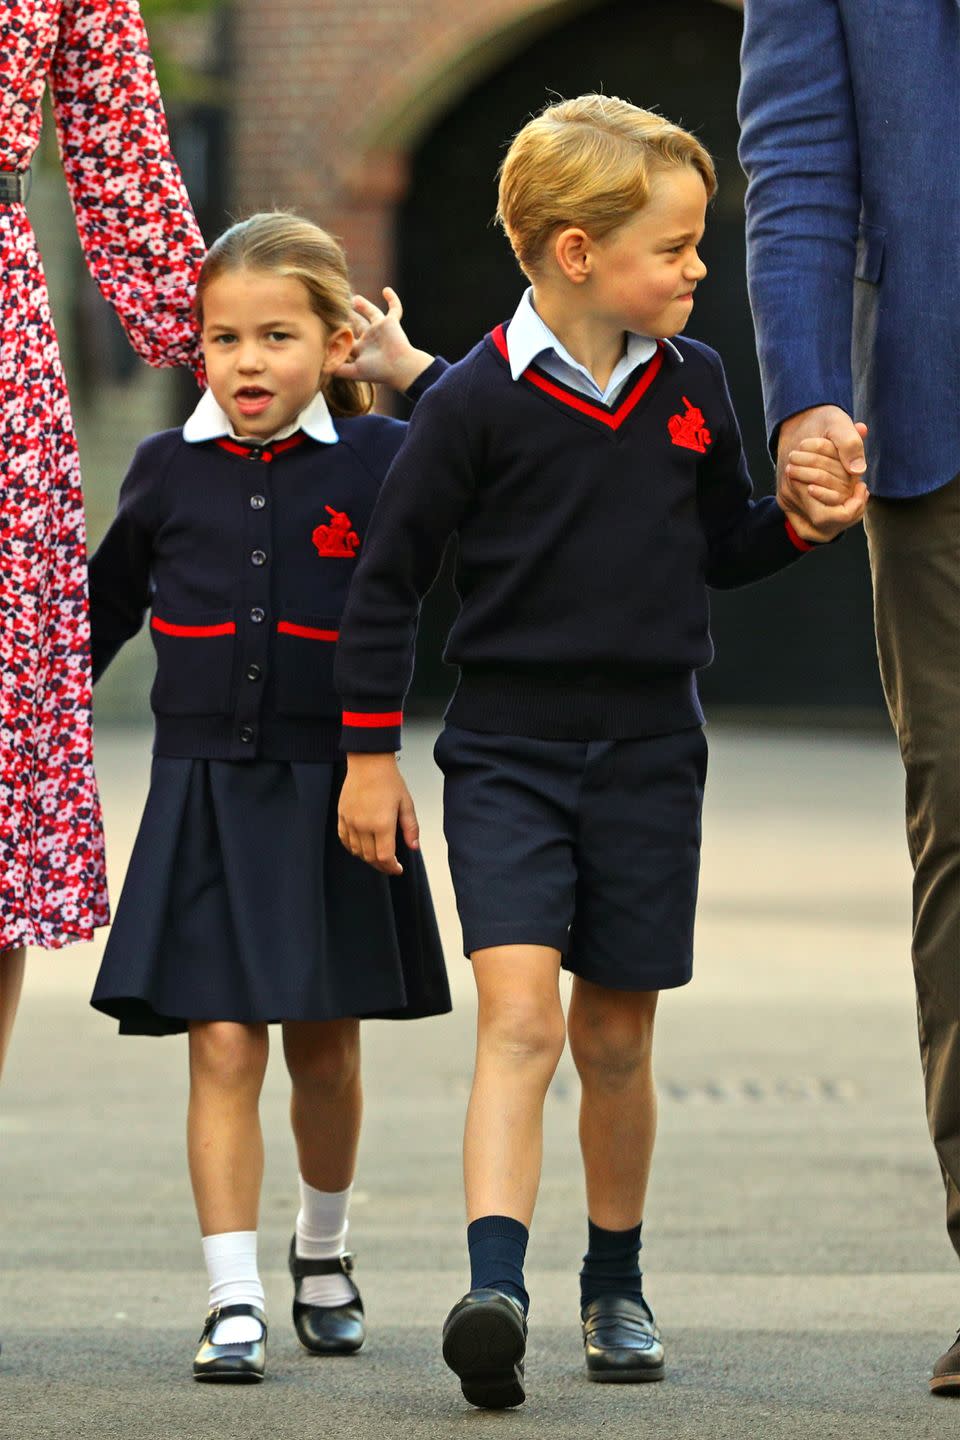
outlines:
[[[337,821],[344,848],[384,876],[403,874],[397,860],[397,825],[407,848],[420,848],[413,801],[393,755],[347,756]]]

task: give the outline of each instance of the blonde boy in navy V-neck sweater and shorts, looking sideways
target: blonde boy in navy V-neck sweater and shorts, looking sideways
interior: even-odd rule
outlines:
[[[718,356],[669,338],[707,274],[714,190],[692,135],[612,96],[551,105],[520,131],[499,219],[531,288],[422,399],[340,634],[340,835],[396,874],[397,822],[407,844],[417,835],[394,757],[417,609],[456,534],[446,658],[461,680],[436,759],[479,1022],[471,1290],[443,1356],[475,1405],[524,1400],[522,1264],[564,1045],[561,966],[583,1087],[587,1374],[664,1374],[640,1221],[658,992],[691,978],[707,586],[763,579],[862,513],[839,464],[813,452],[793,456],[796,481],[813,482],[797,484],[809,524],[751,500]]]

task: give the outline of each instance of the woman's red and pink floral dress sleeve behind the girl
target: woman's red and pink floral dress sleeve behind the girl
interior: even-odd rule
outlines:
[[[49,81],[94,279],[137,354],[199,369],[190,302],[203,238],[170,151],[137,0],[63,0]]]

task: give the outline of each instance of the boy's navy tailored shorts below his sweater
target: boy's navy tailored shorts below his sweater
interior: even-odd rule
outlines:
[[[548,945],[610,989],[689,981],[701,729],[537,740],[448,726],[433,753],[466,955]]]

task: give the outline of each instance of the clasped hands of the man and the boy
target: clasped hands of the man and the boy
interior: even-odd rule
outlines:
[[[862,520],[865,435],[866,426],[835,405],[800,410],[780,426],[777,501],[802,540],[832,540]]]

